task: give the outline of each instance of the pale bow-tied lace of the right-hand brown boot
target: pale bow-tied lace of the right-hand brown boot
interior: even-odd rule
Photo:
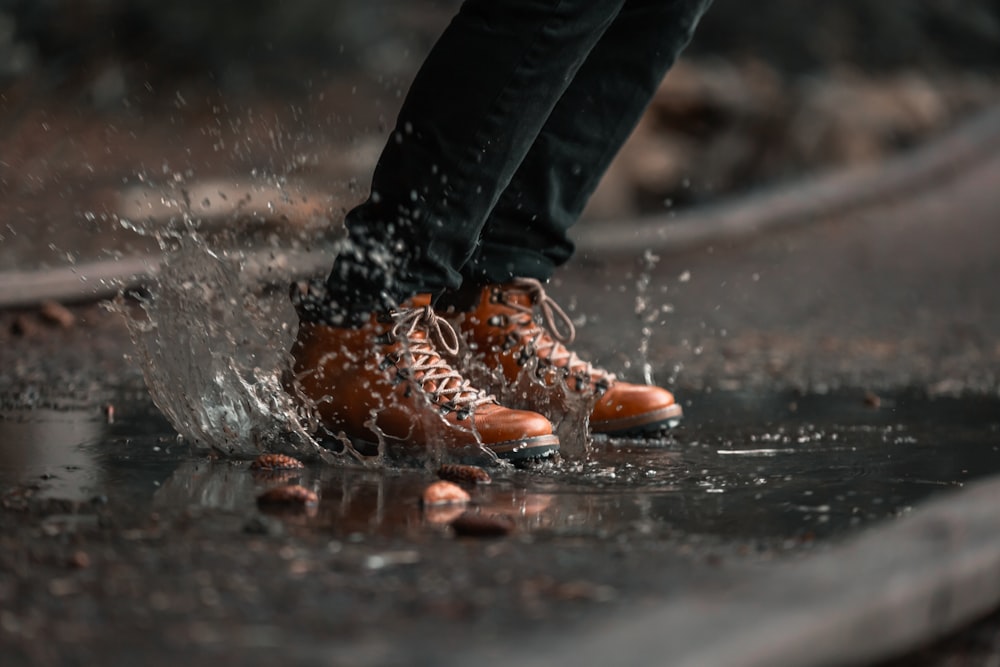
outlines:
[[[527,341],[526,346],[534,351],[539,360],[556,368],[567,369],[578,376],[585,376],[600,388],[611,386],[615,381],[613,373],[595,368],[566,347],[566,344],[571,344],[576,338],[576,327],[566,311],[545,293],[540,281],[534,278],[516,278],[509,283],[507,291],[527,294],[531,300],[530,306],[508,302],[505,304],[518,312],[517,318],[512,318],[512,323],[519,330],[521,340]],[[535,307],[542,315],[542,326],[538,326],[535,321]]]

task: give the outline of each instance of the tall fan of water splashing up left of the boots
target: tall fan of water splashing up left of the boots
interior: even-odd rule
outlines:
[[[277,451],[336,457],[303,425],[282,381],[294,313],[255,293],[242,252],[175,237],[145,318],[127,319],[157,407],[187,440],[233,457]]]

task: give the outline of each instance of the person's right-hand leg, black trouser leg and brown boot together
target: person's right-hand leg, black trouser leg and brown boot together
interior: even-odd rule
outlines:
[[[608,435],[658,433],[677,423],[666,389],[620,382],[566,347],[569,318],[542,283],[573,250],[566,236],[667,69],[691,38],[709,0],[627,0],[559,100],[487,221],[462,273],[463,289],[442,309],[489,370],[480,385],[509,407],[565,419],[547,393],[566,386],[589,396],[590,429]],[[469,369],[474,369],[470,365]],[[539,392],[539,381],[549,392]]]

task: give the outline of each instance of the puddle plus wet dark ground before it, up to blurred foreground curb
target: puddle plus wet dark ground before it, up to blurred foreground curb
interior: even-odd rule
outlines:
[[[419,502],[432,470],[252,471],[179,441],[141,392],[97,398],[0,409],[10,664],[503,656],[511,636],[725,599],[1000,471],[995,398],[692,393],[669,438],[491,470],[472,511],[514,532],[459,538],[461,509]],[[258,508],[289,482],[318,507]]]

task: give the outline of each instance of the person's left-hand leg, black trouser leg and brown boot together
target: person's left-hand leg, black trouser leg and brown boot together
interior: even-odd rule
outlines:
[[[355,447],[509,459],[558,448],[450,365],[457,338],[425,293],[461,282],[489,211],[624,0],[466,0],[404,101],[369,199],[320,289],[293,297],[289,390]],[[454,345],[454,347],[453,347]]]

